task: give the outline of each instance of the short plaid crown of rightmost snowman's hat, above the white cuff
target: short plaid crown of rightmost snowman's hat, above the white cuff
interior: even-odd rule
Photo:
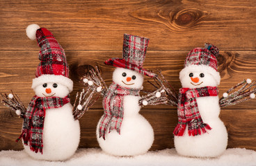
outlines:
[[[219,54],[218,48],[213,44],[205,44],[205,48],[194,48],[189,52],[186,57],[184,67],[191,64],[200,65],[204,64],[210,66],[217,71],[218,61],[217,56]]]

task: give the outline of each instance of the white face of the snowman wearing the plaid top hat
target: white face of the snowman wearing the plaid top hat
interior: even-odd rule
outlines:
[[[141,89],[143,87],[143,75],[127,68],[115,68],[113,82],[125,88]]]

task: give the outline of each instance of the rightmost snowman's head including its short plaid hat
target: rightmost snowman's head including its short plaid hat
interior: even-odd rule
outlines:
[[[205,48],[194,48],[186,57],[184,68],[179,73],[179,80],[183,88],[201,88],[218,86],[221,82],[218,73],[218,48],[212,44],[205,44]]]

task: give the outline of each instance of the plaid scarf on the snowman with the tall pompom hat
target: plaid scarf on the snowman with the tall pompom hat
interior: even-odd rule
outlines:
[[[16,142],[23,138],[24,145],[30,142],[31,151],[42,154],[42,131],[44,129],[45,109],[53,109],[63,107],[63,105],[70,102],[70,98],[47,97],[40,98],[35,95],[29,107],[26,110],[22,128],[22,134],[17,138]]]

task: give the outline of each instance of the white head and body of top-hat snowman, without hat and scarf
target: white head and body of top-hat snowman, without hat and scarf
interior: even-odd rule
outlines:
[[[133,76],[136,77],[135,80],[127,79],[127,77]],[[116,68],[113,73],[113,81],[120,86],[140,89],[143,84],[143,75],[126,68]],[[105,140],[102,137],[99,138],[99,125],[104,116],[99,120],[96,130],[97,141],[106,153],[114,156],[135,156],[145,154],[152,146],[154,131],[150,123],[139,113],[141,109],[138,104],[139,98],[135,95],[125,95],[120,134],[115,130],[109,133],[109,128],[107,128]]]

